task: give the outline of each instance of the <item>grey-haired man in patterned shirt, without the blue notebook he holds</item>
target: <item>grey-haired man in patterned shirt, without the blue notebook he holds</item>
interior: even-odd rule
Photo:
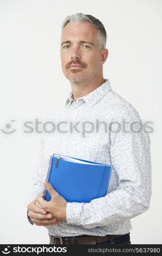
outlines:
[[[130,219],[150,205],[150,139],[134,107],[103,78],[105,47],[99,19],[82,13],[65,18],[60,53],[72,92],[49,117],[57,131],[43,133],[28,201],[29,221],[47,227],[50,244],[130,244]],[[90,203],[66,202],[44,182],[54,153],[112,164],[107,195]],[[50,202],[42,198],[44,186]]]

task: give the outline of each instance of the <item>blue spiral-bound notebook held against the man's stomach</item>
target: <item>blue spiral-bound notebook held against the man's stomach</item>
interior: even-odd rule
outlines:
[[[112,165],[54,154],[50,158],[47,181],[67,202],[89,203],[107,194]],[[43,198],[51,200],[44,188]]]

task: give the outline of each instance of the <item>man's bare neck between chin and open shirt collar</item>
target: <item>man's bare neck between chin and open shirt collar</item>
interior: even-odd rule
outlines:
[[[91,93],[97,89],[105,81],[103,75],[101,77],[95,77],[92,80],[86,80],[83,82],[71,82],[73,98],[76,101],[78,98],[81,98],[88,93]]]

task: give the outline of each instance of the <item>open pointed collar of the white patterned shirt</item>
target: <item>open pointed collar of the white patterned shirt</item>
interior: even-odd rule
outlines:
[[[87,95],[78,98],[76,101],[74,101],[73,99],[73,93],[71,92],[70,94],[68,94],[68,97],[66,99],[66,103],[65,105],[70,106],[72,101],[74,102],[86,102],[90,107],[94,106],[100,99],[102,99],[105,94],[107,92],[109,92],[111,90],[111,84],[110,81],[108,79],[104,79],[104,83],[101,84],[101,86],[99,86],[97,89],[95,89],[94,91],[92,91],[91,93],[88,93]],[[80,105],[80,104],[78,104]]]

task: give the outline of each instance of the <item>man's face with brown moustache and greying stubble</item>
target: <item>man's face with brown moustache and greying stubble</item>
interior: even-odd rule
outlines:
[[[98,29],[88,22],[65,26],[60,53],[62,71],[71,82],[92,80],[102,72]]]

